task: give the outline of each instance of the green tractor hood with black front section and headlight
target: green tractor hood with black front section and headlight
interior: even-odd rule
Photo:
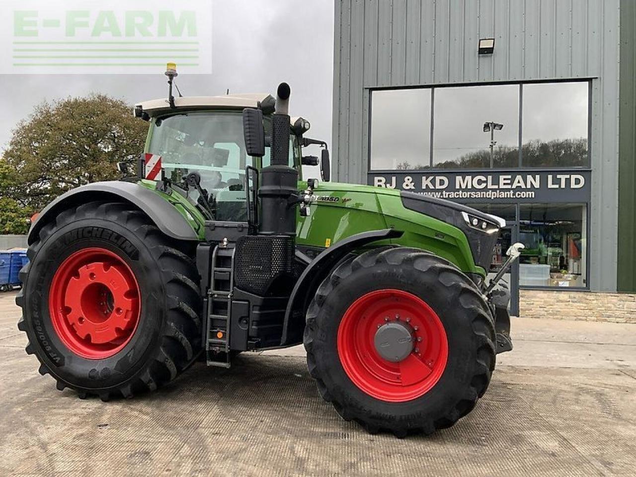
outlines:
[[[482,279],[506,225],[466,205],[389,188],[319,183],[314,195],[312,216],[300,218],[300,244],[322,246],[326,237],[337,242],[354,233],[396,228],[404,235],[392,242],[431,251]]]

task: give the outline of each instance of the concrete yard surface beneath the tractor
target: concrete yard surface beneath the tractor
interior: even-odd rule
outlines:
[[[197,364],[158,392],[59,392],[0,294],[0,475],[606,476],[636,473],[636,325],[513,320],[487,394],[444,431],[396,439],[344,422],[303,351]]]

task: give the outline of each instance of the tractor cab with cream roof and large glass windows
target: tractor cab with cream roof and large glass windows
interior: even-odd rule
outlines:
[[[190,172],[198,172],[200,188],[214,200],[217,221],[247,221],[246,191],[254,190],[254,174],[271,163],[271,141],[266,140],[265,155],[252,157],[245,149],[242,111],[260,107],[263,111],[265,137],[271,136],[273,102],[270,95],[251,93],[211,97],[174,98],[174,107],[165,99],[150,100],[135,106],[135,115],[149,121],[146,154],[159,156],[164,177],[179,184]],[[291,118],[287,165],[298,170],[301,165],[318,165],[314,156],[303,158],[302,148],[326,143],[303,138],[310,125],[303,118]],[[321,169],[328,169],[328,152]],[[327,163],[327,165],[325,165]],[[188,197],[202,202],[196,189]],[[253,198],[252,198],[253,200]]]

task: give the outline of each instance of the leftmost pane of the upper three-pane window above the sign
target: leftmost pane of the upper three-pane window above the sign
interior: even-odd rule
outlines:
[[[430,88],[373,92],[372,169],[428,168],[430,139]]]

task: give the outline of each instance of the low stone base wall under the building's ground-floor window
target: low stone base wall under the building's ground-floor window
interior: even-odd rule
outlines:
[[[519,315],[527,318],[636,323],[636,294],[520,290]]]

